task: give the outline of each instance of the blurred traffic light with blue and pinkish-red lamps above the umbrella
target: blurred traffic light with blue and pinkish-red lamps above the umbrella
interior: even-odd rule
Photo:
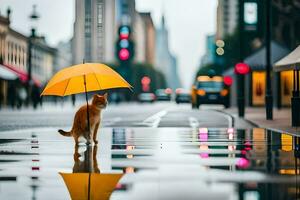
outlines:
[[[121,64],[130,62],[134,57],[134,44],[130,38],[131,29],[127,25],[121,25],[118,31],[116,44],[116,57]]]

